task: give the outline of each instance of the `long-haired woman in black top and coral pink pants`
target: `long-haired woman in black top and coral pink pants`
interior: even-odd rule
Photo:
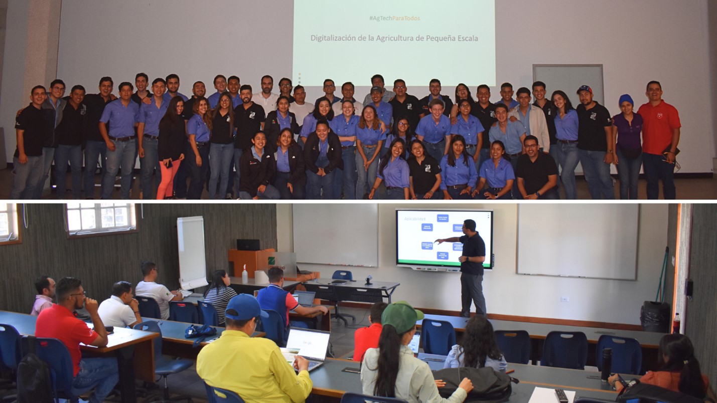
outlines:
[[[167,112],[159,121],[157,155],[162,170],[162,181],[157,188],[157,200],[172,197],[174,176],[179,170],[179,164],[184,160],[186,126],[181,117],[182,112],[184,112],[184,99],[178,95],[169,101]]]

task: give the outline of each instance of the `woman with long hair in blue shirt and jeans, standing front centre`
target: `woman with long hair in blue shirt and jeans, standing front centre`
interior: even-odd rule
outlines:
[[[376,181],[379,151],[386,141],[386,132],[379,125],[374,105],[366,105],[356,128],[356,199],[365,198],[366,189]]]

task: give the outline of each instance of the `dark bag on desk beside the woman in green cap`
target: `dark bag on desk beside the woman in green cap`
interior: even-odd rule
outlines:
[[[441,397],[450,397],[458,384],[463,378],[470,379],[473,382],[473,390],[468,394],[465,402],[505,402],[511,397],[513,388],[511,382],[516,384],[518,379],[497,372],[490,366],[483,368],[445,368],[433,372],[435,379],[443,379],[446,383],[445,387],[439,388],[438,392]]]

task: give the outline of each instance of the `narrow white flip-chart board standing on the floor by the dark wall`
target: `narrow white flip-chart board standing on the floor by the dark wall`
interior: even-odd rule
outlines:
[[[206,282],[204,217],[177,218],[179,283],[184,290],[203,287]]]

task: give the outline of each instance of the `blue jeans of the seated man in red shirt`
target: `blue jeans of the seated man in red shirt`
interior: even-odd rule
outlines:
[[[83,358],[80,360],[80,372],[72,381],[72,394],[78,396],[94,387],[90,403],[102,403],[119,380],[117,359]]]

